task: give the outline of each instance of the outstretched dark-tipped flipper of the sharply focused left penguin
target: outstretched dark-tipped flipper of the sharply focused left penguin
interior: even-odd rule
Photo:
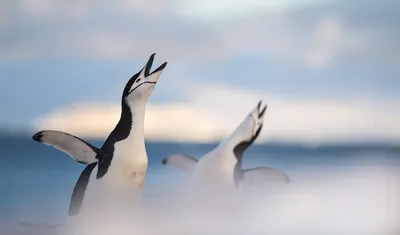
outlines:
[[[86,141],[61,131],[44,130],[32,136],[32,139],[68,154],[82,164],[92,164],[102,161],[106,154]]]

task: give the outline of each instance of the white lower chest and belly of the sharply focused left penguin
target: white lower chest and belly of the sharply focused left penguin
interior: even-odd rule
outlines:
[[[117,142],[107,173],[97,179],[96,167],[89,180],[84,196],[85,210],[99,210],[98,205],[118,204],[125,207],[141,199],[147,172],[147,154],[143,145]],[[110,202],[112,202],[110,204]],[[118,203],[117,203],[118,202]],[[108,207],[103,206],[106,210]]]

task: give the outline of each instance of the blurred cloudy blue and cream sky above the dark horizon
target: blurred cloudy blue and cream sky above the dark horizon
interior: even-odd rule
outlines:
[[[214,141],[262,99],[259,141],[400,140],[394,0],[0,2],[0,129],[105,138],[127,80],[168,61],[146,138]]]

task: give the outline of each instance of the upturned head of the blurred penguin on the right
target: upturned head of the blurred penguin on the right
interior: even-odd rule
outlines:
[[[253,144],[260,135],[266,110],[267,105],[260,101],[232,134],[231,139],[235,144],[241,146],[239,149],[242,151]]]

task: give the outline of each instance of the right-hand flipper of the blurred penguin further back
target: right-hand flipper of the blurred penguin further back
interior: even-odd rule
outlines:
[[[289,183],[288,175],[278,169],[270,167],[256,167],[243,170],[242,183],[260,185],[266,182]]]

